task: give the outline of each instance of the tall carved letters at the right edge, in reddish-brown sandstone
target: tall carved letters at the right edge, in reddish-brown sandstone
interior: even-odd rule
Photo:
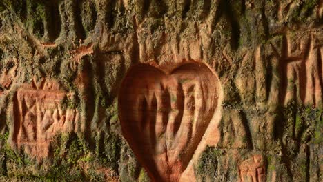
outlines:
[[[300,99],[301,103],[320,105],[323,99],[322,46],[313,35],[302,39],[299,48],[292,53],[292,43],[287,36],[283,39],[280,99],[288,103]]]

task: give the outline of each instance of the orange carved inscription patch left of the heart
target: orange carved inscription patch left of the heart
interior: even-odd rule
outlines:
[[[70,132],[77,120],[76,110],[63,110],[61,102],[66,92],[55,82],[44,80],[41,86],[33,83],[17,91],[14,100],[14,136],[17,148],[25,149],[32,157],[48,157],[50,140],[59,132]]]

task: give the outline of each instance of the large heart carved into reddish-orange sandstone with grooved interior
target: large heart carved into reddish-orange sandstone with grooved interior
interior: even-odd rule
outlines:
[[[134,65],[121,84],[122,134],[153,181],[178,181],[202,140],[218,99],[204,63]]]

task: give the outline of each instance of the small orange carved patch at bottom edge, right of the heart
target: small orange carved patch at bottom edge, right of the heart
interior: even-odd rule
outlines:
[[[254,155],[239,165],[241,182],[264,182],[266,181],[266,168],[261,155]]]

